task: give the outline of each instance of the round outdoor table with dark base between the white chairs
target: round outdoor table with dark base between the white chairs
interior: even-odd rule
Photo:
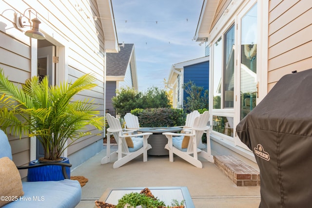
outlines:
[[[169,155],[169,151],[165,149],[168,139],[163,132],[179,132],[180,127],[156,127],[156,128],[140,128],[139,132],[151,132],[147,142],[152,146],[152,149],[147,151],[149,155]]]

